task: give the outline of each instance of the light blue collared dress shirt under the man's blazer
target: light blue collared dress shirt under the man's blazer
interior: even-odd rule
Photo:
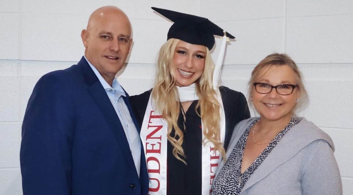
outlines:
[[[124,99],[121,96],[126,97],[124,90],[122,89],[119,82],[114,78],[112,86],[110,86],[98,70],[88,61],[86,56],[84,56],[98,80],[101,82],[103,88],[106,90],[110,102],[118,115],[121,125],[124,128],[127,142],[129,143],[133,161],[136,166],[136,171],[138,176],[140,176],[140,162],[141,162],[141,144],[140,136],[136,129],[136,126],[131,118],[130,112],[126,106]]]

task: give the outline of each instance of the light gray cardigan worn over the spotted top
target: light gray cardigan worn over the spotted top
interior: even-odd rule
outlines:
[[[240,121],[227,149],[227,158],[247,127],[258,118]],[[241,195],[341,195],[342,181],[331,138],[305,118],[293,126],[259,165]],[[217,180],[225,162],[218,167]],[[213,195],[213,194],[212,194]]]

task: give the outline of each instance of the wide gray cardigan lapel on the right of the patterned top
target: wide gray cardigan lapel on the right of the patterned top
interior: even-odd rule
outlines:
[[[317,140],[319,137],[324,140],[331,140],[329,137],[318,135],[315,130],[317,127],[312,124],[312,129],[308,128],[308,121],[302,119],[297,125],[293,126],[278,142],[274,149],[269,153],[266,159],[258,166],[258,168],[250,176],[245,183],[240,194],[258,181],[269,175],[274,169],[288,161],[296,155],[303,147]],[[306,124],[304,124],[306,123]],[[315,128],[315,129],[314,129]],[[330,141],[328,141],[330,144]],[[331,142],[332,143],[332,142]],[[330,144],[333,147],[333,144]]]

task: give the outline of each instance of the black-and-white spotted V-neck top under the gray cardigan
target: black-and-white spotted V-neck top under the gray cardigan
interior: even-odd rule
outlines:
[[[225,195],[233,194],[238,195],[243,189],[246,181],[253,174],[253,172],[260,166],[264,159],[269,155],[271,150],[277,145],[281,138],[286,132],[294,125],[298,124],[298,121],[291,118],[289,123],[282,131],[280,131],[275,138],[268,144],[268,146],[261,152],[261,154],[255,159],[255,161],[247,168],[243,174],[241,174],[241,162],[244,155],[244,149],[247,137],[251,127],[260,119],[255,120],[247,127],[246,131],[240,137],[237,145],[235,145],[231,155],[229,156],[226,164],[223,166],[220,174],[216,178],[213,185],[214,195]]]

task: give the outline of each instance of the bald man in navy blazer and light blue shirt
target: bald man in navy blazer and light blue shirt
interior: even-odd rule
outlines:
[[[23,194],[147,194],[139,128],[115,78],[130,51],[130,21],[117,7],[98,8],[81,38],[78,64],[42,76],[28,101]]]

